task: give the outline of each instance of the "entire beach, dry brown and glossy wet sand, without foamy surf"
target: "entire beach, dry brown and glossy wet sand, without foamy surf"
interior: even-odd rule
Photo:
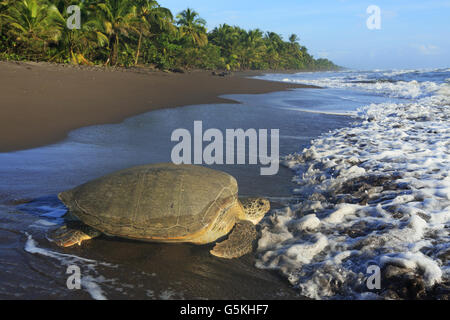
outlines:
[[[174,128],[190,128],[195,119],[203,120],[205,128],[280,128],[280,152],[283,155],[301,150],[321,132],[346,125],[349,121],[346,117],[273,108],[279,104],[276,94],[273,97],[261,95],[257,99],[252,95],[226,97],[233,100],[215,96],[280,91],[290,87],[245,79],[244,75],[218,78],[201,72],[140,74],[66,70],[61,66],[45,65],[32,65],[29,70],[26,64],[1,63],[0,70],[3,71],[0,73],[4,72],[5,65],[16,81],[19,75],[27,74],[29,77],[22,80],[29,86],[9,84],[8,90],[0,89],[4,92],[16,90],[16,95],[6,96],[11,105],[16,106],[10,114],[9,130],[17,136],[7,135],[2,139],[3,151],[8,150],[8,143],[16,150],[19,146],[38,146],[63,139],[71,126],[118,123],[77,129],[64,141],[52,145],[0,152],[0,299],[91,299],[98,295],[108,299],[303,299],[285,278],[270,270],[257,269],[254,266],[256,252],[240,259],[222,260],[209,254],[212,245],[152,244],[106,236],[80,247],[61,249],[49,242],[46,234],[62,223],[58,216],[64,213],[64,207],[56,198],[58,192],[125,167],[170,161],[170,132]],[[89,81],[93,82],[89,87],[80,82],[84,78],[102,81],[97,83],[91,79]],[[78,83],[82,87],[80,92],[87,92],[83,100],[76,94],[69,94],[62,79]],[[152,79],[162,80],[152,82]],[[3,77],[1,81],[7,83]],[[39,81],[50,82],[41,86],[37,85]],[[122,81],[133,85],[121,87]],[[60,89],[56,95],[61,99],[52,98],[50,83]],[[152,89],[147,88],[150,83],[153,83]],[[177,83],[180,93],[162,88],[164,83]],[[106,90],[110,84],[116,86],[117,92]],[[202,86],[197,87],[200,84]],[[21,97],[18,92],[25,87],[31,93]],[[153,97],[158,88],[165,90],[165,95]],[[98,95],[95,94],[97,91]],[[125,103],[127,95],[133,93],[135,99]],[[160,104],[149,104],[149,96],[151,101]],[[20,99],[16,101],[13,97]],[[165,104],[165,99],[170,100],[170,104]],[[164,108],[177,106],[176,103],[230,103],[234,99],[242,104],[233,102],[226,108],[220,104],[167,108],[122,122],[122,117],[149,111],[154,105]],[[144,102],[148,104],[139,105]],[[89,107],[83,105],[77,113],[77,103]],[[37,112],[31,105],[42,107],[40,110],[46,112]],[[53,109],[46,109],[49,106]],[[2,105],[1,112],[5,113],[7,108]],[[25,110],[35,113],[30,111],[24,116],[21,112]],[[23,121],[21,130],[13,125],[14,117]],[[36,118],[42,119],[45,125],[35,124]],[[3,117],[1,121],[8,124]],[[8,131],[3,126],[0,130]],[[272,177],[261,177],[259,168],[254,166],[218,166],[215,169],[233,174],[239,182],[241,195],[291,196],[292,174],[286,168],[280,168],[279,174]],[[27,202],[21,200],[23,198],[34,200],[21,204]],[[277,206],[276,200],[273,205]],[[89,290],[67,289],[66,269],[69,265],[80,267],[86,281],[83,286],[92,285]]]

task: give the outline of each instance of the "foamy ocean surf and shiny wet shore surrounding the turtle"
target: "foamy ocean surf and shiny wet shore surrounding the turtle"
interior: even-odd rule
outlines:
[[[75,130],[57,144],[0,153],[0,298],[442,296],[450,272],[449,70],[261,78],[323,89],[226,96],[240,104],[149,112]],[[107,237],[67,249],[48,241],[66,212],[58,192],[170,161],[171,133],[193,130],[195,120],[204,130],[280,130],[277,175],[262,177],[259,166],[213,166],[237,178],[240,195],[276,204],[261,224],[255,256],[224,261],[208,246]],[[72,265],[82,271],[81,290],[66,286]],[[380,290],[366,286],[370,265],[382,270]]]

